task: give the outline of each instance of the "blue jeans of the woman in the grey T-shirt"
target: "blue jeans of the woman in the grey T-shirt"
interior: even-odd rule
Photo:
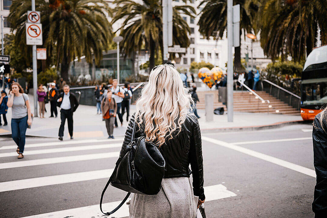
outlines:
[[[11,137],[19,147],[20,154],[24,152],[27,119],[28,116],[18,119],[11,119]]]

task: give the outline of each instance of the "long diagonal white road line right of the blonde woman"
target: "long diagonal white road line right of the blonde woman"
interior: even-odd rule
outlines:
[[[299,173],[303,173],[305,175],[316,178],[316,172],[314,170],[306,168],[304,166],[293,164],[293,163],[281,160],[279,158],[269,156],[267,154],[263,154],[263,153],[260,153],[260,152],[257,152],[257,151],[250,150],[248,148],[243,148],[243,147],[237,146],[237,145],[235,145],[233,143],[223,142],[223,141],[220,141],[220,140],[217,140],[217,139],[214,139],[214,138],[209,138],[209,137],[206,137],[206,136],[202,136],[201,138],[203,140],[205,140],[205,141],[210,142],[210,143],[214,143],[216,145],[220,145],[220,146],[223,146],[225,148],[230,148],[230,149],[242,152],[244,154],[248,154],[250,156],[259,158],[261,160],[265,160],[265,161],[268,161],[268,162],[273,163],[273,164],[284,166],[284,167],[286,167],[288,169],[291,169],[291,170],[297,171]]]

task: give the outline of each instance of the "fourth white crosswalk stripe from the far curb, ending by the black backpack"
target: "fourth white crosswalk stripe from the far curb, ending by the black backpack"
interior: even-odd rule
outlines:
[[[47,185],[58,185],[70,182],[80,182],[93,179],[104,179],[109,178],[112,174],[112,171],[113,169],[94,170],[80,173],[68,173],[55,176],[0,182],[0,192],[42,187]]]

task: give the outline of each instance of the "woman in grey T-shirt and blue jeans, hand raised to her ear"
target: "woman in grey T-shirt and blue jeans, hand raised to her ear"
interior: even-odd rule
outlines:
[[[18,159],[21,159],[24,158],[26,128],[32,124],[32,118],[28,95],[24,93],[19,83],[14,82],[10,86],[7,106],[11,107],[12,111],[11,137],[17,144]]]

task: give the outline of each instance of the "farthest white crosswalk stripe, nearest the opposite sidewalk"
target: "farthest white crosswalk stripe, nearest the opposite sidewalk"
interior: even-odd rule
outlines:
[[[85,143],[97,143],[97,142],[117,142],[123,141],[124,138],[115,138],[115,139],[86,139],[86,140],[67,140],[67,141],[59,141],[59,142],[44,142],[44,143],[35,143],[35,144],[27,144],[25,148],[35,148],[35,147],[45,147],[45,146],[55,146],[55,145],[74,145],[74,144],[85,144]],[[7,145],[0,147],[0,150],[4,149],[16,149],[16,145]]]

